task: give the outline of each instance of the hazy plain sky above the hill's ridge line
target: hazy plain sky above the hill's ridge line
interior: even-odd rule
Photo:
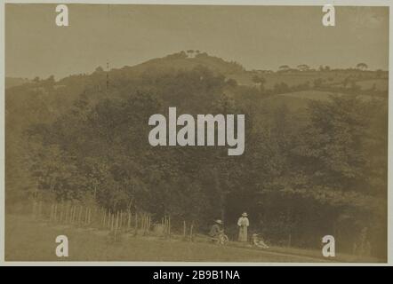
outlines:
[[[246,69],[389,66],[385,7],[336,6],[335,27],[322,25],[320,6],[68,4],[69,27],[55,25],[55,7],[5,5],[7,76],[59,79],[188,49]]]

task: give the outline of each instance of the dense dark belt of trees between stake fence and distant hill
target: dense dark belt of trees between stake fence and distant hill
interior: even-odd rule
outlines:
[[[202,232],[223,217],[229,234],[246,210],[254,232],[302,247],[318,247],[321,236],[336,233],[350,250],[355,232],[368,227],[373,254],[383,256],[387,99],[332,96],[293,111],[204,67],[118,74],[107,91],[94,87],[104,88],[105,72],[92,76],[96,81],[89,78],[90,87],[80,88],[60,115],[30,120],[23,130],[18,167],[41,197],[171,214]],[[166,114],[168,106],[245,114],[245,154],[150,146],[148,117]]]

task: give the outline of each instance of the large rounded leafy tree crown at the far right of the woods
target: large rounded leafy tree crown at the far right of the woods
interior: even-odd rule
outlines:
[[[369,127],[366,106],[357,97],[331,97],[310,103],[309,125],[294,149],[314,185],[356,190],[365,186],[366,155],[362,141]]]

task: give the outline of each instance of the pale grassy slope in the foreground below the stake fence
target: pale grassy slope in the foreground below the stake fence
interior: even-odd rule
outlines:
[[[68,236],[69,256],[55,255],[55,238]],[[48,225],[27,216],[8,215],[5,226],[6,261],[187,261],[187,262],[325,262],[316,250],[299,248],[221,247],[206,241],[160,240],[124,234],[120,241],[109,241],[108,232]],[[356,262],[338,256],[334,261]],[[375,260],[369,260],[375,261]]]

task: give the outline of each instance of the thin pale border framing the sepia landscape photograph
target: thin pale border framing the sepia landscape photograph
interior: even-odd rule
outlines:
[[[393,236],[393,214],[392,214],[392,201],[393,195],[392,191],[392,166],[393,166],[393,157],[392,157],[392,146],[393,146],[393,102],[389,99],[389,130],[388,130],[388,260],[387,263],[255,263],[255,262],[155,262],[155,261],[146,261],[146,262],[138,262],[138,261],[5,261],[5,250],[4,250],[4,231],[5,231],[5,164],[4,164],[4,154],[5,154],[5,129],[4,129],[4,120],[5,120],[5,32],[4,32],[4,6],[5,4],[182,4],[182,5],[288,5],[288,6],[322,6],[325,4],[333,4],[334,6],[387,6],[389,7],[389,98],[391,92],[393,90],[393,81],[390,75],[390,70],[393,70],[393,59],[392,59],[392,32],[393,31],[393,19],[390,16],[391,8],[393,7],[393,1],[381,1],[381,0],[342,0],[342,1],[321,1],[321,0],[309,0],[309,1],[300,1],[300,0],[246,0],[246,1],[235,1],[235,0],[182,0],[182,1],[174,1],[174,0],[145,0],[145,1],[132,1],[132,0],[85,0],[85,1],[68,1],[68,0],[59,0],[59,1],[28,1],[28,0],[0,0],[0,64],[2,67],[0,68],[0,89],[1,89],[1,99],[0,99],[0,209],[1,209],[1,217],[0,217],[0,265],[29,265],[29,266],[41,266],[41,265],[49,265],[49,266],[68,266],[68,265],[94,265],[94,266],[106,266],[106,265],[121,265],[121,266],[144,266],[144,265],[156,265],[156,266],[217,266],[217,265],[225,265],[225,266],[270,266],[270,265],[279,265],[279,266],[387,266],[393,264],[393,248],[392,248],[392,236]],[[53,240],[54,241],[54,240]]]

